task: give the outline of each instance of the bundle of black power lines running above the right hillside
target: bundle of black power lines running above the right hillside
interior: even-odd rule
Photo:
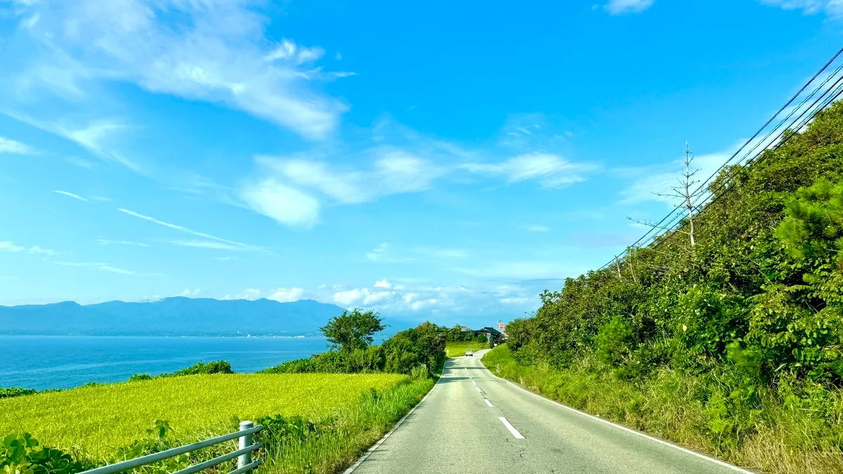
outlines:
[[[781,119],[781,121],[779,121],[779,123],[776,125],[776,127],[773,127],[769,132],[767,132],[766,135],[763,138],[760,139],[760,141],[754,143],[754,146],[752,148],[749,148],[749,150],[746,151],[746,153],[744,154],[743,157],[738,159],[735,167],[732,170],[728,170],[727,175],[725,175],[724,178],[719,183],[717,183],[717,185],[718,185],[717,188],[711,188],[708,191],[701,192],[703,190],[703,187],[709,186],[709,184],[711,183],[711,180],[713,178],[715,178],[724,168],[726,168],[733,161],[733,159],[735,159],[738,156],[738,154],[741,154],[741,152],[744,151],[744,148],[749,147],[749,145],[751,143],[753,143],[754,140],[757,137],[759,137],[759,135],[762,132],[764,132],[765,129],[767,127],[769,127],[770,124],[773,121],[776,120],[776,117],[781,115],[781,112],[786,110],[788,106],[792,105],[792,103],[795,100],[797,100],[797,98],[799,98],[799,96],[801,94],[803,94],[803,92],[806,89],[808,89],[808,86],[810,86],[817,78],[819,78],[819,76],[822,73],[824,73],[824,71],[826,69],[828,69],[830,67],[830,65],[832,63],[834,63],[835,60],[838,57],[840,57],[840,54],[843,54],[843,48],[840,48],[840,50],[838,50],[835,53],[835,55],[833,57],[831,57],[831,59],[828,62],[826,62],[824,64],[824,66],[819,69],[819,71],[817,71],[817,73],[814,73],[813,77],[808,79],[808,82],[804,83],[802,88],[799,89],[796,94],[793,94],[793,96],[790,98],[790,100],[787,100],[785,105],[782,105],[781,108],[779,110],[777,110],[776,113],[773,114],[773,116],[771,116],[771,118],[768,121],[766,121],[765,124],[762,127],[760,127],[757,132],[755,132],[753,134],[752,137],[749,137],[749,139],[743,145],[741,145],[741,147],[738,148],[738,150],[734,154],[732,154],[732,156],[729,157],[729,159],[726,160],[725,163],[720,165],[720,167],[717,168],[717,170],[715,170],[711,174],[711,176],[709,176],[706,180],[703,180],[701,182],[700,186],[698,186],[695,190],[695,193],[699,194],[699,196],[695,200],[695,202],[692,204],[692,207],[697,209],[697,212],[699,212],[699,210],[702,208],[703,205],[706,205],[706,202],[711,197],[715,197],[711,201],[711,202],[715,202],[719,197],[722,197],[725,194],[726,191],[729,191],[730,189],[733,189],[731,187],[728,187],[728,188],[726,188],[726,191],[724,191],[720,194],[717,194],[717,191],[721,191],[724,187],[728,186],[729,182],[734,178],[735,175],[737,175],[739,169],[743,169],[745,166],[753,163],[756,159],[758,159],[760,156],[762,156],[767,149],[776,149],[776,148],[779,148],[782,144],[787,143],[787,140],[789,140],[790,137],[793,136],[793,133],[798,132],[803,127],[805,127],[805,125],[807,125],[808,122],[811,121],[813,119],[813,117],[817,115],[817,113],[819,113],[819,111],[824,110],[826,107],[828,107],[828,105],[830,105],[832,102],[834,102],[834,100],[836,100],[840,96],[840,94],[843,94],[843,76],[840,76],[839,78],[837,78],[835,83],[833,83],[828,89],[824,89],[824,92],[822,94],[820,94],[820,96],[816,100],[814,100],[811,103],[811,105],[808,105],[808,107],[804,107],[804,105],[806,105],[809,100],[813,99],[813,96],[816,95],[821,89],[823,89],[824,86],[827,83],[829,83],[832,78],[835,78],[835,77],[838,76],[840,71],[843,70],[843,64],[840,64],[840,66],[836,67],[834,72],[830,73],[828,75],[828,77],[825,78],[824,81],[822,81],[822,83],[819,83],[819,85],[815,89],[813,89],[813,91],[810,94],[808,94],[808,96],[803,98],[803,100],[799,103],[799,105],[797,105],[793,110],[791,110],[790,113],[787,114],[787,116],[783,117]],[[820,103],[819,107],[814,107],[818,103]],[[805,114],[808,113],[808,111],[812,110],[812,109],[813,109],[813,111],[811,111],[811,113],[809,113],[808,116],[805,116]],[[782,126],[785,124],[785,122],[790,120],[792,118],[792,116],[794,114],[796,114],[797,111],[799,111],[799,110],[802,110],[802,113],[800,113],[799,116],[797,116],[795,119],[790,121],[790,123],[787,125],[787,127],[782,128]],[[800,120],[802,120],[802,121],[799,123],[798,127],[796,127],[795,129],[792,128],[793,125],[796,124],[797,121],[800,121]],[[791,133],[790,135],[788,135],[787,137],[785,137],[782,140],[781,137],[788,130],[792,130],[793,133]],[[776,134],[776,132],[778,132],[778,133]],[[771,137],[773,134],[776,134],[776,137],[771,142],[768,143],[767,142],[768,138]],[[756,149],[758,149],[764,143],[766,143],[765,146],[763,148],[761,148],[760,151],[757,154],[754,154],[751,158],[748,159],[750,154],[753,154],[753,152]],[[771,148],[771,145],[772,145],[772,148]],[[711,202],[708,202],[708,203],[711,204]],[[667,234],[667,233],[658,234],[658,228],[673,229],[674,226],[676,226],[677,224],[681,224],[682,219],[685,218],[685,214],[682,213],[682,212],[679,212],[679,213],[677,213],[677,212],[680,211],[681,209],[684,209],[684,208],[685,208],[685,206],[683,206],[683,205],[679,205],[679,206],[674,207],[674,209],[672,209],[666,216],[664,216],[660,221],[658,221],[657,224],[653,224],[651,226],[651,229],[647,230],[647,232],[645,234],[643,234],[641,238],[636,240],[632,245],[630,245],[630,247],[649,245],[653,241],[658,239],[658,237],[660,235]],[[669,219],[669,221],[668,221],[668,219]],[[667,222],[667,224],[665,224],[666,222]],[[642,244],[642,242],[644,244]],[[657,244],[657,247],[658,247],[658,245],[661,245],[661,242]],[[609,265],[611,265],[615,262],[615,258],[608,261],[603,267],[600,267],[599,269],[603,270],[604,268],[609,267]]]

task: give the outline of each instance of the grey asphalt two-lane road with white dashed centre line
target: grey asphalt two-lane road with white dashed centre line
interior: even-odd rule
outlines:
[[[535,396],[478,356],[449,359],[427,398],[346,473],[748,472]]]

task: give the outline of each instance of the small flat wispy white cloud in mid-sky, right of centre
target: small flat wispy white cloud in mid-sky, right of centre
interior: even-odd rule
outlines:
[[[480,175],[503,175],[509,183],[538,180],[542,187],[560,188],[585,180],[593,164],[572,163],[556,154],[522,154],[498,164],[467,163],[461,168]]]

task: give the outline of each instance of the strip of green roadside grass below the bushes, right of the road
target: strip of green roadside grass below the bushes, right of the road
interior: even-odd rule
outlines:
[[[758,393],[756,407],[742,412],[728,398],[711,404],[711,398],[719,396],[717,373],[659,369],[642,380],[619,380],[590,359],[566,369],[518,364],[505,344],[482,361],[492,373],[569,407],[738,466],[777,474],[843,472],[840,389],[780,380],[775,390]],[[818,399],[817,393],[827,395]]]

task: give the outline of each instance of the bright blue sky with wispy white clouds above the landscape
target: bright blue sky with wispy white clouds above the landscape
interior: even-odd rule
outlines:
[[[511,320],[840,47],[840,0],[0,0],[0,304]]]

